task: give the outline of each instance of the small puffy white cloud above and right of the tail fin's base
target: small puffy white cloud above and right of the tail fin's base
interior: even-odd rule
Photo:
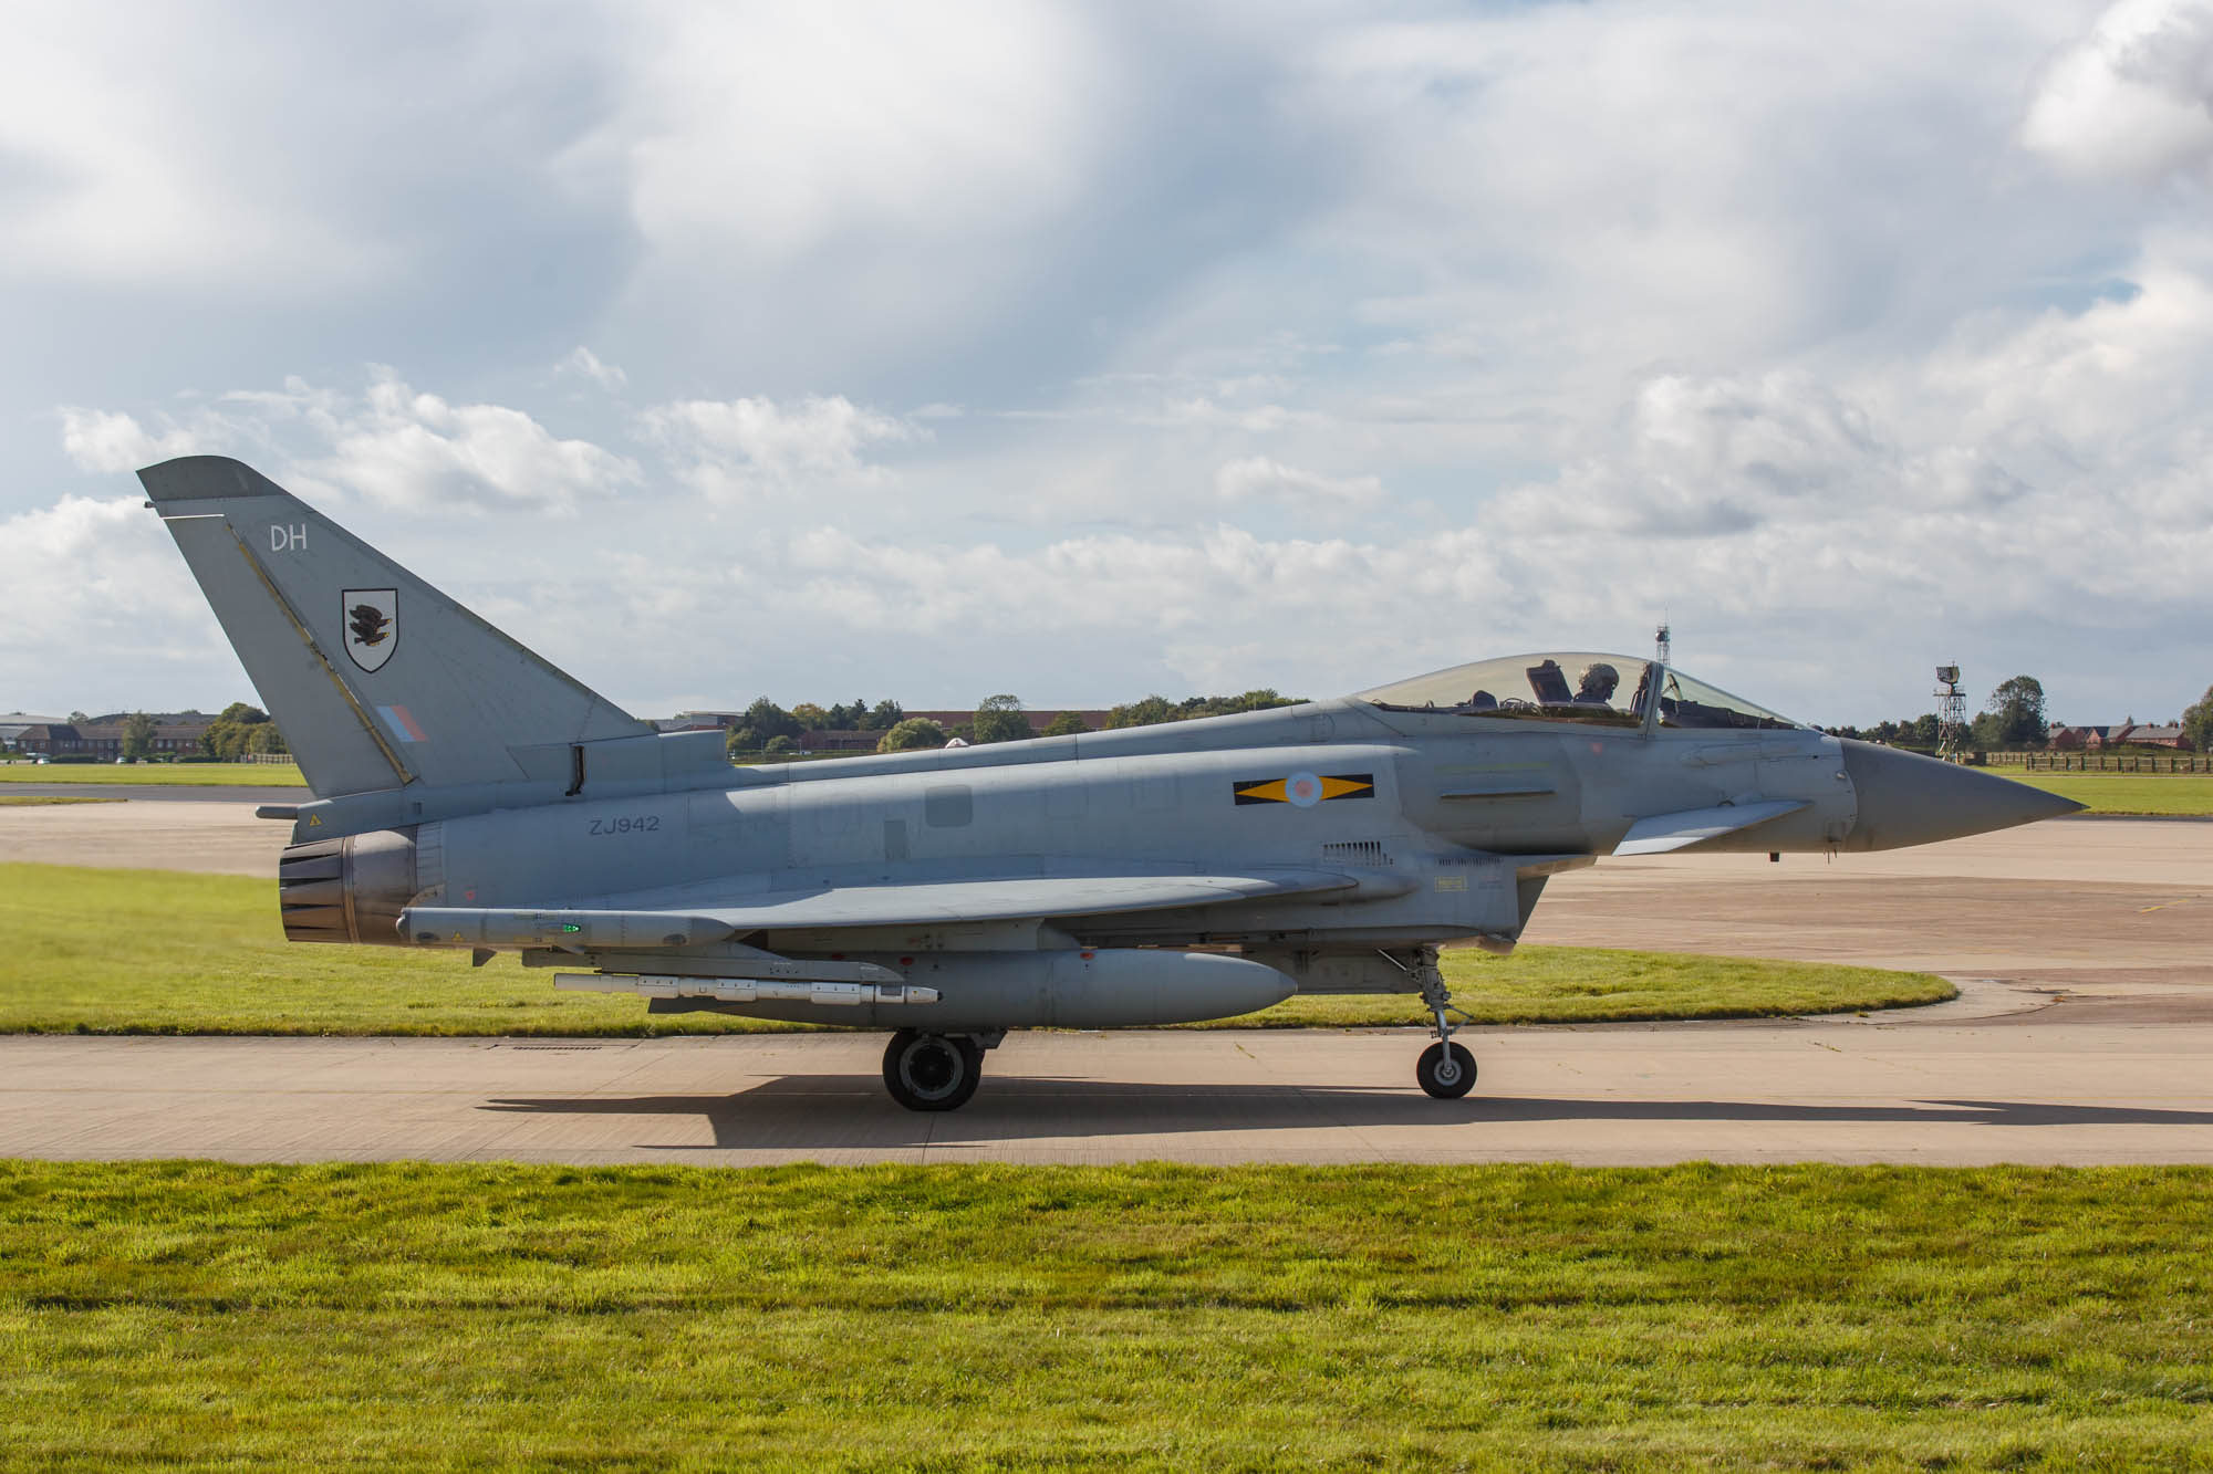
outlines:
[[[715,500],[801,485],[870,485],[883,469],[863,460],[865,447],[925,434],[843,394],[794,403],[679,401],[646,409],[640,429],[673,458],[684,485]]]

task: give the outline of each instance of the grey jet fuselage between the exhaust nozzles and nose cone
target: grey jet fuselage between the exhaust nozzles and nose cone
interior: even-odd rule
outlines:
[[[1812,730],[1489,722],[1359,699],[726,772],[713,788],[600,799],[586,783],[567,801],[409,826],[414,872],[398,887],[445,905],[682,910],[1078,863],[1301,865],[1361,883],[1326,901],[1060,921],[1080,941],[1164,945],[1292,932],[1339,945],[1511,941],[1531,879],[1611,852],[1638,819],[1804,803],[1706,845],[1757,850],[1837,848],[1854,821],[1841,746]],[[1315,797],[1297,781],[1317,781]],[[770,941],[806,952],[812,938]]]

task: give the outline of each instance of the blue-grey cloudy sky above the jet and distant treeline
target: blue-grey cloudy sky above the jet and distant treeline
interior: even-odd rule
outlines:
[[[2213,9],[11,4],[0,708],[250,460],[640,713],[2213,682]]]

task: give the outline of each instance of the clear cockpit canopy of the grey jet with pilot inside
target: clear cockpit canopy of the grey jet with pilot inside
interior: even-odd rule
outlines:
[[[1374,691],[1383,710],[1436,710],[1520,722],[1587,722],[1642,728],[1653,684],[1666,728],[1797,728],[1797,722],[1631,655],[1554,653],[1478,660]]]

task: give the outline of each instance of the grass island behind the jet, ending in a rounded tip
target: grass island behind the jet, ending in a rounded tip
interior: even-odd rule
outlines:
[[[728,1034],[719,1014],[648,1016],[637,1000],[555,994],[511,956],[283,941],[270,881],[168,870],[0,865],[0,1031],[100,1034]],[[1735,1018],[1934,1003],[1943,978],[1525,947],[1447,954],[1483,1023]],[[1250,1025],[1421,1023],[1412,998],[1292,998]]]

